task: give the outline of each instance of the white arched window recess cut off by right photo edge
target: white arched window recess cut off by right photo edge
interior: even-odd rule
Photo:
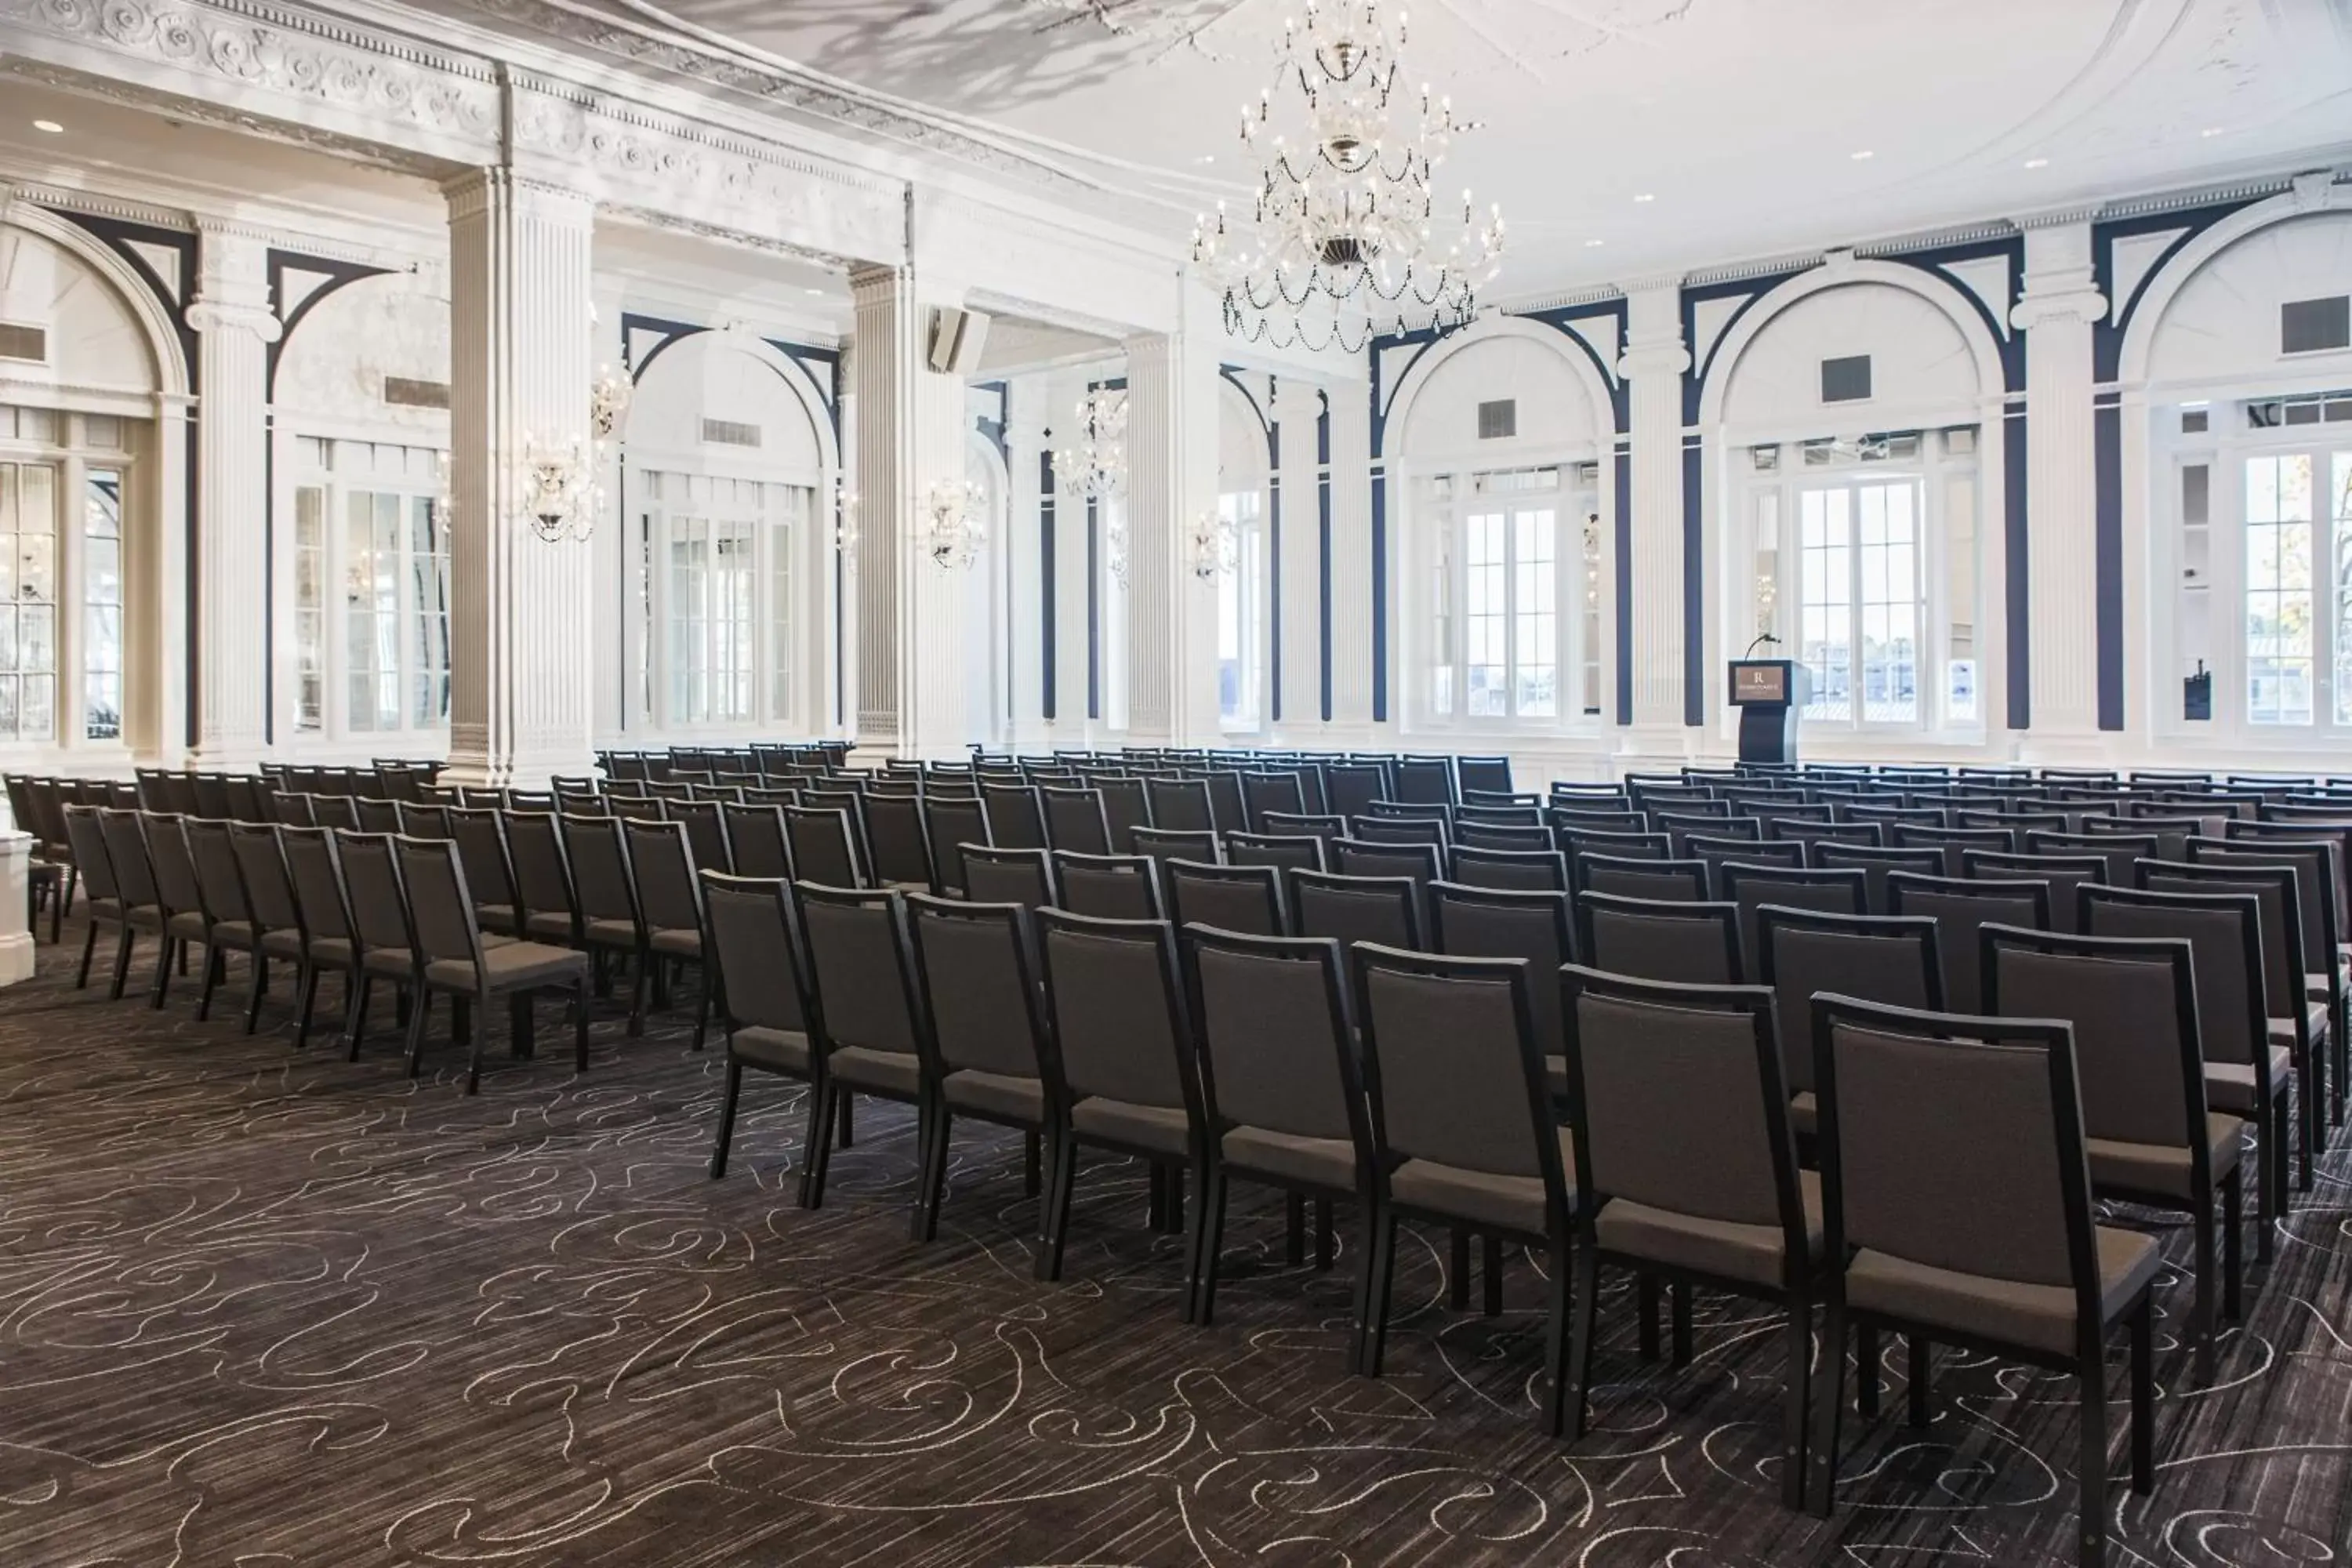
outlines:
[[[2352,741],[2352,212],[2256,228],[2147,343],[2154,729]]]

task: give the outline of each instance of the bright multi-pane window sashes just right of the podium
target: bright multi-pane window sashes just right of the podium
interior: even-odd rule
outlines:
[[[1917,480],[1799,491],[1797,646],[1813,686],[1806,719],[1919,722],[1919,555]]]

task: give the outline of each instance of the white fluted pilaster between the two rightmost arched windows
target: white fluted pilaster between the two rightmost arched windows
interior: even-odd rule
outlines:
[[[2025,588],[2034,748],[2098,733],[2098,484],[2091,226],[2025,230]],[[2016,658],[2011,649],[2011,658]]]

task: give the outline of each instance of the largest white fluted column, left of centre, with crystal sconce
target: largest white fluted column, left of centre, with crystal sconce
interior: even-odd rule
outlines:
[[[449,202],[449,776],[543,788],[593,764],[590,545],[522,515],[532,442],[588,456],[595,202],[473,169]],[[607,517],[602,527],[614,527]]]

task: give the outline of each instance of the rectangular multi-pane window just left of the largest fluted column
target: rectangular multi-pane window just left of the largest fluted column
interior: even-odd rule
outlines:
[[[313,437],[294,447],[294,729],[386,736],[447,726],[440,454]]]

